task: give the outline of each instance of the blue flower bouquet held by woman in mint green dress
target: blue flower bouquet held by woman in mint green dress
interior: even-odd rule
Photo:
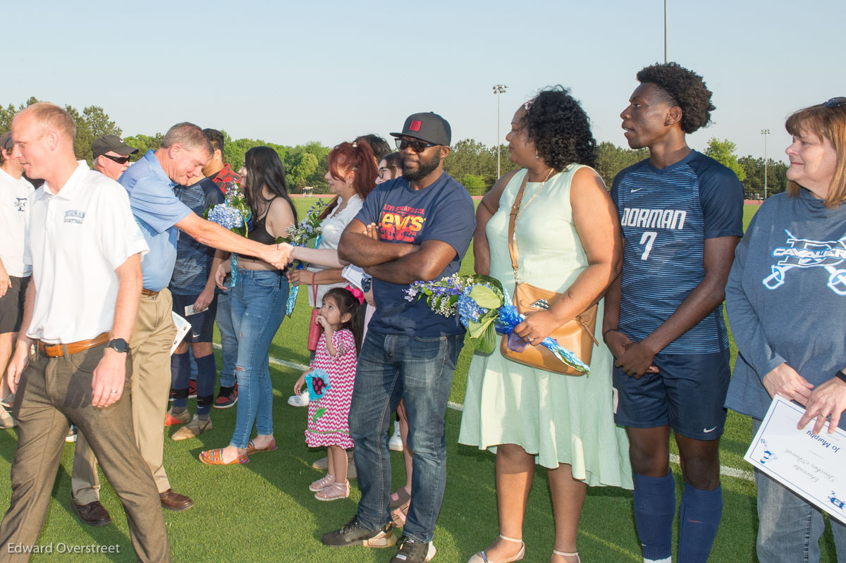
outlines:
[[[414,282],[405,290],[407,301],[423,296],[435,313],[445,317],[458,314],[470,336],[470,344],[483,353],[492,353],[497,347],[497,333],[511,334],[525,320],[525,315],[511,303],[503,284],[491,276],[453,274],[437,282]],[[569,367],[583,374],[591,372],[591,366],[551,337],[544,338],[541,346],[549,348]]]

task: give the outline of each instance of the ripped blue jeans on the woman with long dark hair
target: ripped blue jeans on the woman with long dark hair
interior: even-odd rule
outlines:
[[[260,435],[273,434],[270,344],[285,316],[288,280],[277,271],[238,270],[231,290],[232,324],[238,334],[238,413],[229,442],[246,448],[255,423]]]

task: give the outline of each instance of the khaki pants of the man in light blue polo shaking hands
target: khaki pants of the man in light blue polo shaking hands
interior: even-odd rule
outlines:
[[[160,493],[170,489],[164,471],[164,415],[170,394],[170,348],[176,336],[173,299],[167,289],[155,297],[141,296],[129,348],[132,352],[132,423],[135,443],[150,467]],[[82,430],[82,429],[80,429]],[[100,481],[94,453],[85,431],[77,435],[70,491],[79,505],[99,500]]]

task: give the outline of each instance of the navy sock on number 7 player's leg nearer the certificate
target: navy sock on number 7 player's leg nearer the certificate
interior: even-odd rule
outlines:
[[[694,489],[684,484],[678,531],[678,560],[696,563],[708,560],[711,544],[722,517],[722,486],[714,490]]]

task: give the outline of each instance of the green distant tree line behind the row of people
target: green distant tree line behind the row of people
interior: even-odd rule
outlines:
[[[14,107],[0,106],[0,134],[8,131],[12,126],[14,113],[38,101],[31,97],[29,100]],[[118,127],[102,107],[84,107],[82,111],[72,106],[65,106],[76,122],[76,139],[74,151],[80,160],[88,161],[91,165],[91,143],[97,137],[106,134],[120,136],[123,131]],[[302,193],[306,186],[314,189],[316,194],[326,194],[328,183],[324,176],[327,173],[327,156],[330,147],[323,146],[316,141],[305,145],[277,145],[261,139],[232,139],[226,131],[222,131],[225,138],[223,161],[236,171],[244,162],[244,154],[254,146],[266,145],[277,151],[279,158],[285,164],[288,189],[294,194]],[[139,149],[134,159],[143,156],[147,150],[156,150],[162,145],[163,133],[152,135],[135,134],[124,137],[127,145]],[[610,189],[611,183],[618,172],[649,157],[646,149],[632,150],[620,148],[607,141],[596,147],[596,172]],[[764,159],[752,156],[736,155],[737,145],[728,139],[711,139],[705,150],[723,165],[731,168],[744,186],[747,199],[760,199],[764,196]],[[508,146],[500,145],[500,175],[517,167],[508,159]],[[444,170],[459,181],[471,195],[482,195],[491,189],[497,181],[497,147],[488,147],[474,139],[461,139],[454,143],[452,150],[444,161]],[[766,194],[772,195],[787,189],[787,165],[780,161],[767,159],[766,161]]]

